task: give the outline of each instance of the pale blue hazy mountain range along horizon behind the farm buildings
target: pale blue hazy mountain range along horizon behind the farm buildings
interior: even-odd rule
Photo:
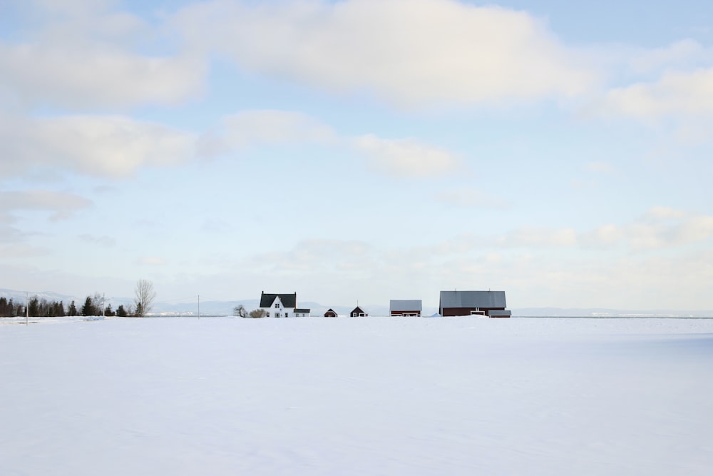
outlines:
[[[10,289],[0,289],[0,298],[12,298],[17,303],[25,303],[26,298],[46,299],[48,301],[62,301],[64,305],[69,305],[73,300],[79,307],[84,303],[86,296],[78,298],[76,296],[64,295],[45,291],[42,293],[24,293]],[[111,303],[112,308],[118,305],[131,305],[133,298],[107,298],[107,303]],[[245,306],[248,311],[256,309],[260,305],[259,299],[245,299],[232,301],[206,300],[200,301],[200,315],[232,315],[233,309],[238,305]],[[339,315],[348,315],[356,307],[354,305],[323,305],[313,302],[298,302],[299,308],[308,308],[312,315],[324,315],[327,309],[332,308]],[[388,305],[359,305],[369,315],[389,315]],[[617,318],[617,317],[656,317],[656,318],[707,318],[713,317],[713,310],[620,310],[608,308],[513,308],[513,317],[554,317],[554,318]],[[438,308],[424,307],[423,315],[434,315]],[[198,315],[198,298],[195,302],[182,300],[180,303],[170,303],[156,301],[153,303],[152,313],[154,315]]]

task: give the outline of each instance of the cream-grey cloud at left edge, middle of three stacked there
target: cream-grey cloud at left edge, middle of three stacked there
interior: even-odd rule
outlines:
[[[123,116],[0,116],[4,176],[34,168],[124,178],[143,166],[170,166],[194,155],[195,136]]]

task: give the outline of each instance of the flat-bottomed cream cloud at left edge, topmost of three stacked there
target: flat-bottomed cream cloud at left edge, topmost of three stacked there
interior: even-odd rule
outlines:
[[[0,43],[0,69],[0,91],[19,102],[72,109],[179,103],[198,94],[205,74],[188,57],[146,57],[103,45]]]

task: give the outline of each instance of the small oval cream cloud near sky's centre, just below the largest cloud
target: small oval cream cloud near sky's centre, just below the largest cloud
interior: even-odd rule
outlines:
[[[438,176],[461,166],[453,153],[416,139],[382,139],[369,134],[354,138],[352,143],[366,154],[372,168],[392,176]]]

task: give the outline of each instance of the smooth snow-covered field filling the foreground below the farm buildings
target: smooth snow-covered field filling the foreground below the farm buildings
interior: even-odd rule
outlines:
[[[0,319],[0,473],[710,475],[712,376],[704,319]]]

